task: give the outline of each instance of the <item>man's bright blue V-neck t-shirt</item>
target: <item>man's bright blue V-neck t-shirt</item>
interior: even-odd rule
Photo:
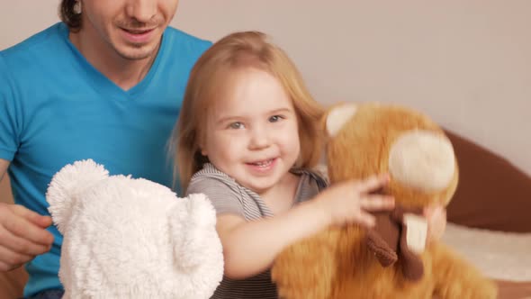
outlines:
[[[171,186],[167,140],[193,63],[210,45],[167,28],[148,74],[128,91],[88,63],[64,23],[0,51],[0,159],[11,161],[15,202],[49,214],[51,177],[80,159]],[[62,287],[62,236],[49,231],[53,247],[27,264],[25,295]]]

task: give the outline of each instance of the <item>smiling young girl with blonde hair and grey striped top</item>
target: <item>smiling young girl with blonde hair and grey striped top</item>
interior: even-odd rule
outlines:
[[[269,268],[286,246],[329,225],[369,227],[368,212],[392,209],[391,197],[371,195],[386,176],[324,189],[311,171],[322,115],[263,33],[230,34],[195,64],[173,143],[184,191],[207,195],[218,215],[225,277],[213,298],[276,298]]]

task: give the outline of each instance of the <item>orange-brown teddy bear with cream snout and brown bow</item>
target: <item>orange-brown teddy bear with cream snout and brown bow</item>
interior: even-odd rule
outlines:
[[[272,278],[281,298],[495,298],[496,286],[438,241],[426,243],[428,204],[448,204],[454,149],[426,115],[385,104],[342,104],[323,121],[330,183],[389,173],[395,210],[376,226],[331,227],[285,249]]]

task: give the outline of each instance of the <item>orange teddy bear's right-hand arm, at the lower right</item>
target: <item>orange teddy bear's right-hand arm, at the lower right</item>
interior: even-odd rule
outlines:
[[[444,244],[430,246],[436,294],[441,299],[494,299],[496,285]]]

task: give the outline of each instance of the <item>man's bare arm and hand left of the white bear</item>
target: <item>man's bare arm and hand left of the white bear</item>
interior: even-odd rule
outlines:
[[[9,161],[0,159],[0,179]],[[49,216],[42,216],[23,205],[0,202],[0,271],[22,266],[25,262],[48,252],[53,236],[46,228]]]

